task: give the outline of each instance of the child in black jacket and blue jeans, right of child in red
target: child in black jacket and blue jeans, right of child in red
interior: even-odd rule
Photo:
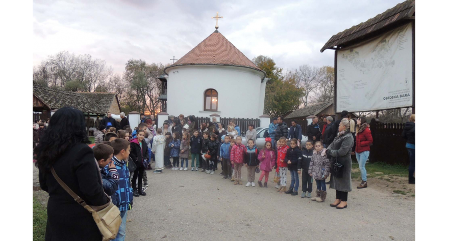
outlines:
[[[291,193],[292,196],[298,195],[298,187],[300,187],[300,178],[298,176],[298,161],[303,158],[303,153],[298,146],[298,140],[296,138],[290,141],[291,148],[287,149],[287,168],[290,171],[291,183],[290,188],[286,194]]]

